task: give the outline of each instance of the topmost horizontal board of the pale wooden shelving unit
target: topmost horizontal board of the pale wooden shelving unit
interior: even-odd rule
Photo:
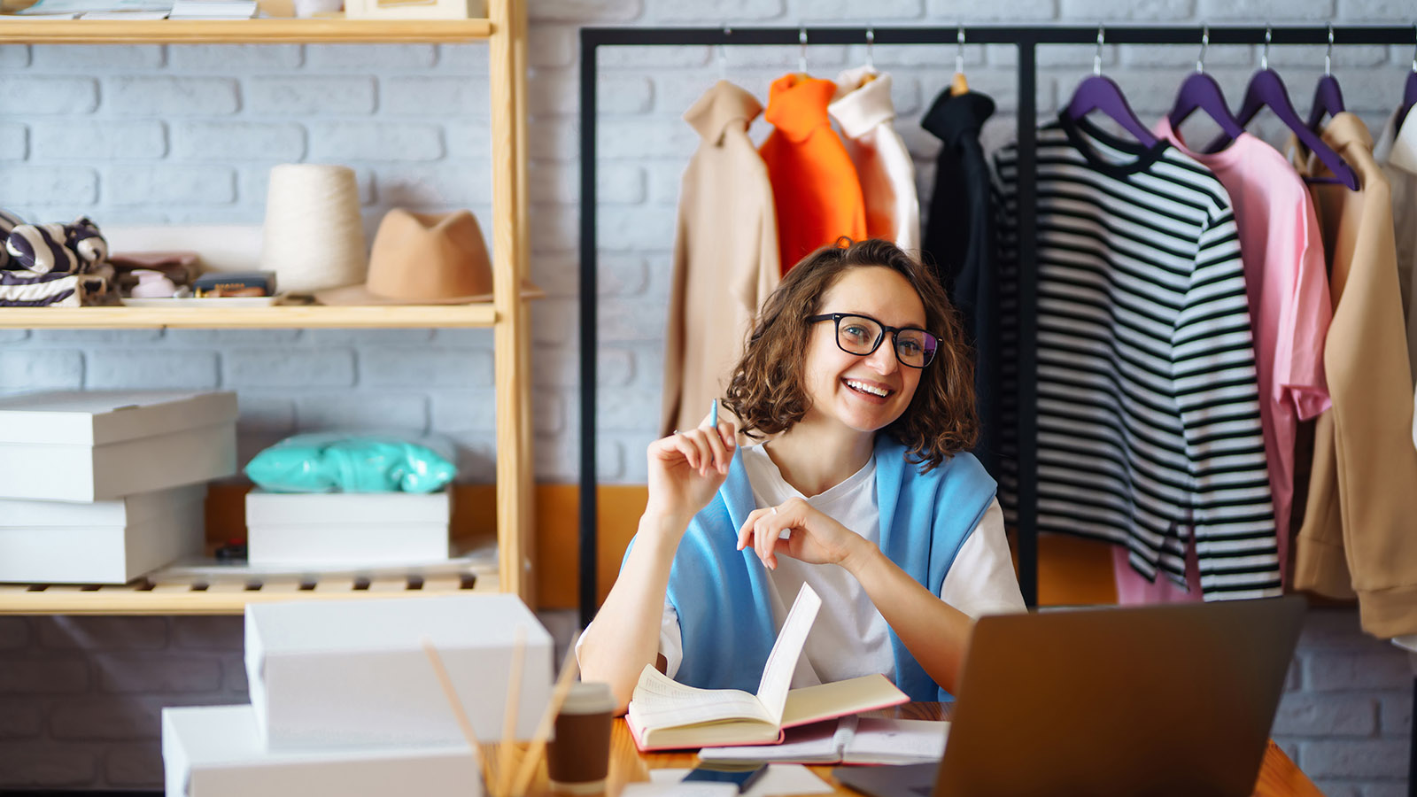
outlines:
[[[489,20],[43,20],[6,14],[0,44],[378,44],[489,38]]]

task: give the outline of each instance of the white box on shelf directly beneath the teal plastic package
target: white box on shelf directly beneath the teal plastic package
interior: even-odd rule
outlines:
[[[293,567],[446,560],[448,495],[252,491],[247,494],[247,560]]]

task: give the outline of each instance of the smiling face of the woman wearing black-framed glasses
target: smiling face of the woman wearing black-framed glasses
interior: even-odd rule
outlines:
[[[879,265],[842,274],[813,315],[825,313],[864,315],[886,326],[925,326],[925,305],[910,281]],[[803,420],[876,431],[904,414],[921,370],[900,364],[893,343],[894,335],[887,332],[870,355],[852,355],[837,346],[832,321],[815,323],[803,374],[811,408]]]

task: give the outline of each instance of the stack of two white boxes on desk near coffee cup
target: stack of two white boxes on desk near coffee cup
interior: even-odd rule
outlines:
[[[251,705],[163,709],[167,797],[478,797],[424,641],[479,742],[497,742],[519,627],[516,737],[529,739],[551,696],[551,635],[516,596],[248,604]]]

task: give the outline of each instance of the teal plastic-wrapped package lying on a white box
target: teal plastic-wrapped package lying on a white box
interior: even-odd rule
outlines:
[[[271,492],[436,492],[458,475],[451,448],[388,434],[298,434],[256,454],[245,472]]]

